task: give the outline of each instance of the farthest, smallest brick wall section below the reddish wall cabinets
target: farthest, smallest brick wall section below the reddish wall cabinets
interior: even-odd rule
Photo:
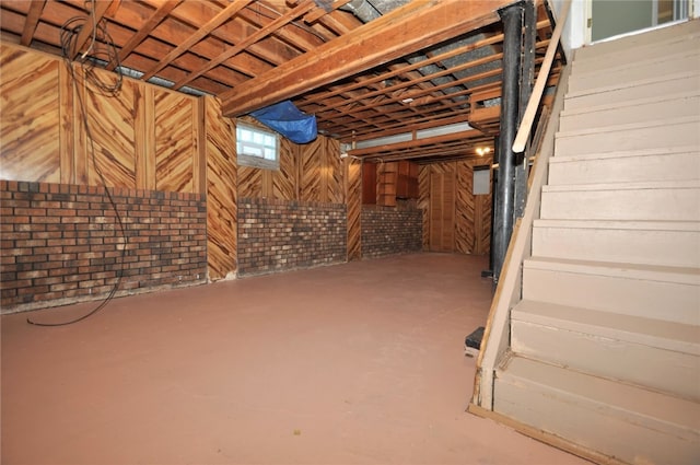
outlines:
[[[363,206],[361,214],[362,258],[422,251],[422,210]]]

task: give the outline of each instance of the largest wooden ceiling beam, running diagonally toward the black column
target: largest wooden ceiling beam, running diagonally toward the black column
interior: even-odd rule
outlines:
[[[513,0],[413,1],[220,95],[240,116],[499,20]]]

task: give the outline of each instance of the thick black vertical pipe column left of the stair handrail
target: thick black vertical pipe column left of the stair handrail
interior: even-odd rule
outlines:
[[[505,252],[513,232],[515,155],[513,141],[517,132],[523,3],[501,10],[503,21],[503,77],[501,91],[501,133],[498,146],[498,204],[493,219],[493,280],[498,282]]]

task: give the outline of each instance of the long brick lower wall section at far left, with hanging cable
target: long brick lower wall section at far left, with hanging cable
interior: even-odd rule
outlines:
[[[2,311],[206,282],[203,196],[0,181]],[[124,251],[122,251],[124,249]],[[121,257],[124,254],[124,264]]]

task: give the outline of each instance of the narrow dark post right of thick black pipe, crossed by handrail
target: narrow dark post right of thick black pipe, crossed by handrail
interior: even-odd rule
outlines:
[[[529,96],[533,94],[535,82],[535,42],[537,39],[537,19],[535,18],[535,4],[533,0],[527,0],[523,4],[523,51],[521,55],[521,98],[517,116],[520,126],[523,114],[527,107]],[[513,222],[523,217],[525,211],[525,200],[527,199],[527,175],[529,173],[527,152],[515,154],[515,201],[513,210]]]

